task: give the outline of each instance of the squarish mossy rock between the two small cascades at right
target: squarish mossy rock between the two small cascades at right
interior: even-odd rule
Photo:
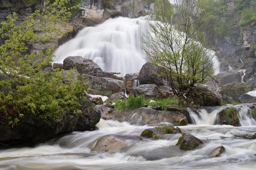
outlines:
[[[218,123],[220,125],[239,126],[238,111],[235,107],[226,108],[218,113]]]

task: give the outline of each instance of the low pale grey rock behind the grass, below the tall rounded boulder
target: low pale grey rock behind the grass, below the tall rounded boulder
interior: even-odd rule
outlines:
[[[134,89],[133,93],[135,95],[143,95],[144,97],[156,97],[156,98],[167,98],[173,97],[174,93],[164,91],[158,88],[155,84],[143,84],[139,85],[137,88]]]

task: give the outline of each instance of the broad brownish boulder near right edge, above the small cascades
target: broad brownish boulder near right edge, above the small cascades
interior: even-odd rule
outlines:
[[[222,96],[232,97],[234,101],[238,102],[239,97],[253,90],[253,85],[249,82],[234,82],[232,84],[227,84],[222,86],[220,89],[220,94]]]

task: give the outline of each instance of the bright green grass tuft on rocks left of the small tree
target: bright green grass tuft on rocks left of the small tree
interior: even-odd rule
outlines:
[[[115,102],[115,109],[123,110],[123,109],[138,109],[139,107],[143,107],[142,96],[134,96],[130,95],[127,99],[119,99]]]

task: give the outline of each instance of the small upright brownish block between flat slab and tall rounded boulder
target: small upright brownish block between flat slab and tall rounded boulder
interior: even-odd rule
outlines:
[[[127,94],[130,94],[135,88],[137,88],[137,86],[139,86],[138,75],[139,73],[131,73],[125,75],[124,82]]]

